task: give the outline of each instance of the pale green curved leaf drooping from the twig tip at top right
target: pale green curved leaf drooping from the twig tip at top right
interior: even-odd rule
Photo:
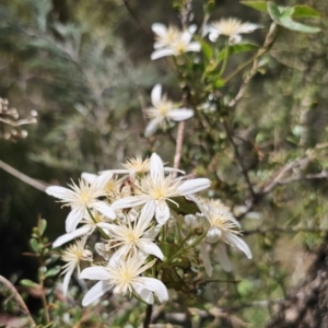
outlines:
[[[285,8],[282,12],[280,9],[271,1],[268,2],[268,12],[277,24],[292,31],[303,32],[303,33],[317,33],[320,31],[318,27],[307,26],[291,19],[294,13],[294,8]]]

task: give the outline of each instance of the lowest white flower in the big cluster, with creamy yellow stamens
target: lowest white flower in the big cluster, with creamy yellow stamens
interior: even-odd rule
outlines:
[[[155,278],[140,277],[142,272],[151,268],[154,261],[143,265],[144,257],[117,258],[107,267],[91,267],[84,269],[80,278],[101,280],[84,296],[82,305],[86,306],[99,298],[107,291],[113,290],[114,294],[136,293],[149,304],[154,303],[153,293],[160,302],[168,300],[168,294],[162,281]]]

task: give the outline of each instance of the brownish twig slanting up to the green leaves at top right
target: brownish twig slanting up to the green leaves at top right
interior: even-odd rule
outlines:
[[[238,93],[236,94],[236,96],[229,103],[230,107],[235,106],[236,103],[243,97],[247,84],[249,83],[251,78],[257,73],[259,58],[269,51],[269,49],[271,48],[271,46],[273,45],[273,43],[276,40],[277,33],[278,33],[278,26],[276,23],[272,23],[270,26],[270,30],[267,34],[263,46],[258,49],[257,54],[254,57],[253,67],[251,67],[250,71],[245,77],[245,79],[242,83],[242,86],[241,86]]]

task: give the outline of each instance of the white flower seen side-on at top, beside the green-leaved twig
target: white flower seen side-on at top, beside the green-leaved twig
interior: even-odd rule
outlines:
[[[209,38],[214,43],[220,35],[226,35],[229,36],[229,43],[235,45],[242,40],[239,34],[251,33],[261,27],[261,25],[254,23],[242,23],[242,21],[233,17],[222,19],[221,21],[211,24],[209,27]]]

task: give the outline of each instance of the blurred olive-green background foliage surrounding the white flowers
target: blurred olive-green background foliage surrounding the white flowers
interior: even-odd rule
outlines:
[[[204,2],[192,2],[196,24],[202,20]],[[0,96],[21,116],[32,109],[38,113],[38,124],[25,128],[26,139],[0,139],[1,161],[31,177],[62,186],[81,172],[118,167],[136,154],[156,151],[172,164],[175,144],[166,133],[143,137],[147,119],[142,108],[150,105],[155,83],[180,98],[169,62],[150,60],[151,24],[179,24],[178,13],[171,1],[127,3],[0,1]],[[203,286],[201,311],[195,303],[188,304],[189,296],[173,295],[174,302],[165,316],[159,316],[160,321],[185,327],[248,327],[247,323],[265,327],[289,289],[306,277],[317,247],[327,242],[328,4],[326,0],[278,3],[313,5],[321,12],[323,20],[316,24],[323,32],[281,30],[268,65],[229,114],[238,153],[260,196],[251,199],[220,121],[212,125],[214,139],[197,120],[187,124],[181,159],[186,171],[213,181],[210,196],[233,207],[254,259],[231,254],[233,273],[218,266],[215,277],[239,283]],[[222,16],[269,25],[267,15],[235,0],[215,1],[211,20]],[[253,40],[261,44],[266,32],[257,31]],[[245,58],[234,59],[234,65]],[[232,81],[232,95],[241,82],[242,75]],[[216,113],[208,115],[209,121],[215,122]],[[175,129],[172,126],[168,132],[175,133]],[[44,192],[0,169],[0,273],[14,284],[22,278],[34,279],[37,263],[22,255],[28,250],[30,231],[40,214],[47,219],[47,235],[54,241],[63,233],[65,212]],[[28,302],[36,312],[38,298],[30,297]],[[169,312],[183,314],[188,306],[192,319],[169,317]],[[58,318],[68,307],[57,304]],[[112,300],[102,309],[107,324],[98,327],[136,327],[142,309],[133,302]],[[72,316],[90,314],[80,312],[77,306]],[[81,327],[96,326],[89,321]]]

